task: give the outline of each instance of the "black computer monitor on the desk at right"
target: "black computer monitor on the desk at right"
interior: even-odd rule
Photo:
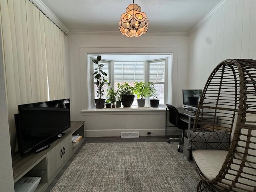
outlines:
[[[202,95],[202,89],[184,89],[182,90],[183,104],[187,106],[197,107],[199,99]]]

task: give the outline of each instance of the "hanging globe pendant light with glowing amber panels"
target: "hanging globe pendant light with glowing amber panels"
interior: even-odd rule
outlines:
[[[148,30],[148,17],[133,3],[126,8],[119,21],[120,32],[127,37],[139,37]]]

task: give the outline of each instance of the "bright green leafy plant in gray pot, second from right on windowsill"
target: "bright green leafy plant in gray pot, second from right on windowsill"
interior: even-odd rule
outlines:
[[[134,92],[137,94],[138,107],[145,107],[145,100],[147,96],[150,96],[150,83],[145,84],[144,82],[134,83]]]

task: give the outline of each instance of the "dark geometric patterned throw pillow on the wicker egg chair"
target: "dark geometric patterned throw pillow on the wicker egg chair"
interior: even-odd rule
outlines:
[[[189,149],[229,149],[228,131],[194,132],[187,130]]]

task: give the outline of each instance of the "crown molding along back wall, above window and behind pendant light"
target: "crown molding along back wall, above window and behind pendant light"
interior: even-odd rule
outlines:
[[[120,31],[84,31],[70,30],[70,35],[122,35]],[[188,32],[146,32],[143,36],[188,36]]]

